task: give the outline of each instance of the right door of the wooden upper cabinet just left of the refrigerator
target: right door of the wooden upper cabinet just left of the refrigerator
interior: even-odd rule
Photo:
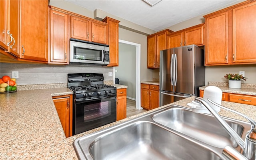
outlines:
[[[166,32],[156,35],[156,67],[160,67],[160,50],[166,50]]]

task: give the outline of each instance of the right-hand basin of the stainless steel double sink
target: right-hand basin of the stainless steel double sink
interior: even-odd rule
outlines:
[[[233,148],[238,147],[235,140],[213,116],[198,114],[185,108],[173,107],[158,114],[154,114],[152,119],[157,123],[211,146],[218,148],[224,148],[225,146],[232,146]],[[228,118],[225,120],[239,136],[242,136],[244,131],[242,124]]]

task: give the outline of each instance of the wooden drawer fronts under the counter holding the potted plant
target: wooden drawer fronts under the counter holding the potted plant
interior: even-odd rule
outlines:
[[[204,96],[204,90],[200,90],[200,97]],[[222,100],[235,102],[235,103],[242,103],[242,104],[249,104],[249,105],[256,105],[256,96],[250,96],[246,94],[234,94],[234,93],[226,93],[222,92]]]

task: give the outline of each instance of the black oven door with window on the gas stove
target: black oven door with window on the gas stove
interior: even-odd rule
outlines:
[[[75,100],[73,135],[116,121],[116,94],[88,100]]]

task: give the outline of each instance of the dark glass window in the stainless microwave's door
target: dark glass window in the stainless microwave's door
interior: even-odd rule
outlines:
[[[75,60],[102,61],[102,58],[102,50],[94,50],[90,48],[81,48],[74,46]]]

